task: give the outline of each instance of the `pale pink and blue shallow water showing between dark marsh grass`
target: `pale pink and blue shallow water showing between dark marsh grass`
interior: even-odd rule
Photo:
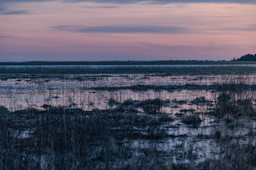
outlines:
[[[174,122],[166,124],[164,128],[168,129],[169,137],[165,142],[159,142],[159,148],[170,151],[175,156],[173,161],[190,162],[191,160],[184,154],[185,151],[192,150],[197,153],[197,161],[201,162],[206,157],[215,157],[220,155],[221,147],[215,142],[214,134],[219,131],[216,121],[211,115],[205,114],[212,111],[215,106],[218,91],[208,91],[207,89],[189,90],[180,89],[168,91],[164,89],[156,90],[95,90],[95,87],[112,86],[137,86],[137,85],[183,85],[183,84],[256,84],[255,76],[252,75],[218,75],[218,76],[163,76],[155,74],[105,74],[105,75],[65,75],[46,78],[31,78],[16,75],[16,77],[7,77],[0,81],[0,101],[1,105],[9,108],[11,111],[22,108],[38,108],[44,104],[50,106],[70,106],[82,108],[85,111],[92,109],[111,108],[108,101],[112,98],[114,101],[122,103],[127,99],[133,101],[144,101],[147,99],[160,98],[163,101],[169,101],[166,106],[161,108],[161,112],[169,113]],[[246,92],[246,91],[244,91]],[[248,93],[251,93],[248,92]],[[246,93],[245,93],[246,94]],[[245,95],[244,94],[244,95]],[[252,96],[247,94],[245,96]],[[204,97],[207,103],[193,103],[195,98]],[[114,107],[114,106],[113,106]],[[139,109],[143,113],[143,109]],[[184,125],[181,120],[186,114],[197,113],[203,120],[198,127],[193,128]],[[241,120],[237,120],[239,122]],[[237,123],[235,122],[235,123]],[[240,123],[240,122],[239,122]],[[238,123],[238,124],[239,124]],[[248,120],[241,125],[250,125],[252,129],[256,127],[255,121]],[[240,137],[247,134],[248,128],[228,129],[229,135]],[[33,130],[24,130],[15,132],[19,138],[30,137]],[[213,136],[213,137],[212,137]],[[210,137],[208,139],[207,137]],[[239,140],[245,142],[246,140]],[[150,141],[134,140],[134,147],[149,147]]]

